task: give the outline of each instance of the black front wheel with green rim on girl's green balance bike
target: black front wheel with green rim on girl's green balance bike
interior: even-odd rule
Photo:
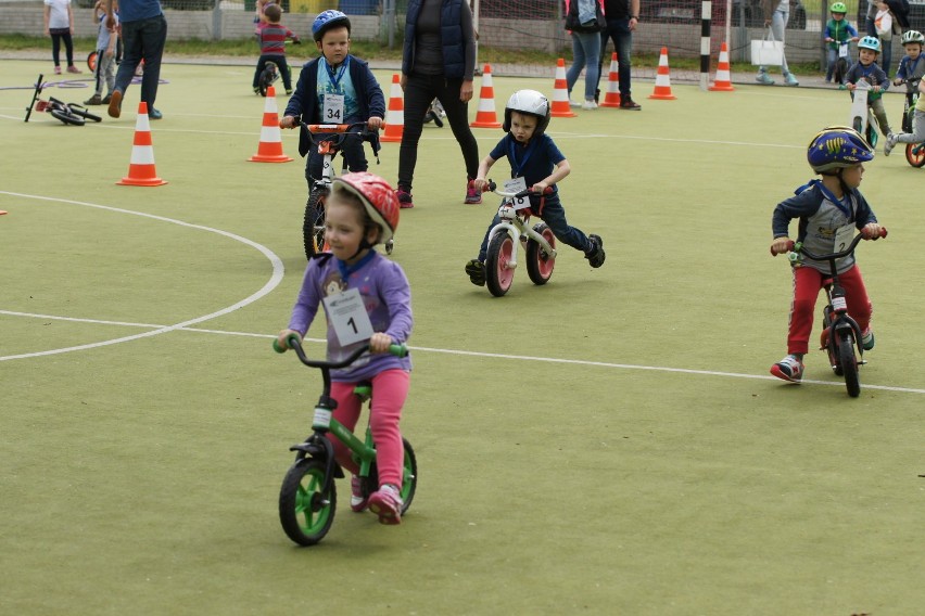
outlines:
[[[317,490],[306,493],[302,484],[302,480],[311,475],[316,485],[324,485],[325,473],[326,465],[322,461],[304,458],[289,469],[279,489],[279,522],[286,536],[300,546],[318,543],[334,523],[338,509],[338,490],[334,484],[331,484],[327,503],[320,502],[321,496]],[[305,502],[306,498],[309,503]],[[306,506],[312,510],[307,518],[304,517]],[[304,525],[300,516],[306,521]]]

